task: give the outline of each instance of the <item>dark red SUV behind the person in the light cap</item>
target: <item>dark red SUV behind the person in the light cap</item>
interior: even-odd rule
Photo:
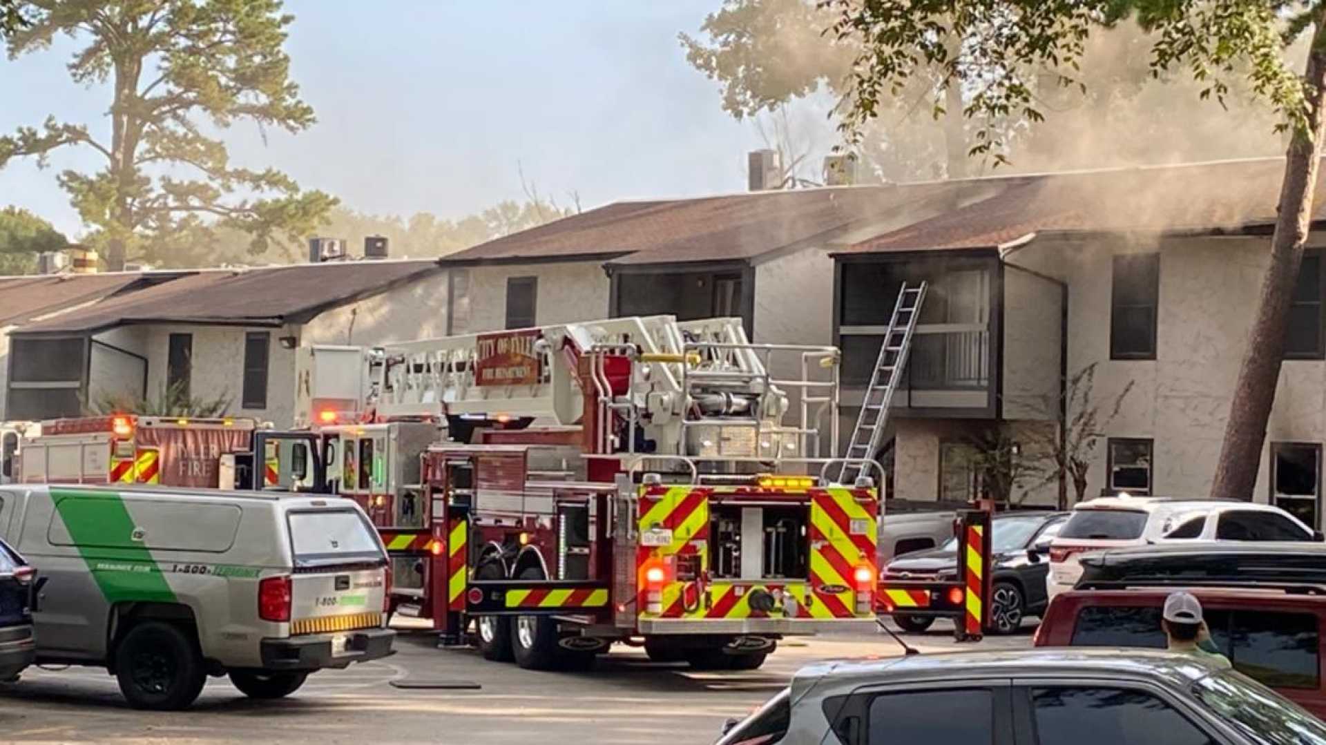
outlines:
[[[1326,546],[1146,546],[1082,563],[1079,589],[1050,603],[1037,647],[1163,650],[1160,610],[1181,589],[1201,601],[1211,636],[1235,669],[1326,720]]]

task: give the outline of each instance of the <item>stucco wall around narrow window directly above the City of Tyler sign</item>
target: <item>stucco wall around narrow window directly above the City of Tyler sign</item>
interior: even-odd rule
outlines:
[[[507,326],[508,277],[538,277],[534,322],[540,326],[609,317],[609,280],[599,261],[472,266],[471,331]]]

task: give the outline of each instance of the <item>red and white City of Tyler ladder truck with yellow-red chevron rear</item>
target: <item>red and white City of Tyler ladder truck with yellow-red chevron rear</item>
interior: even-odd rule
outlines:
[[[302,347],[296,406],[322,488],[378,525],[394,610],[444,640],[749,669],[875,623],[878,464],[830,476],[838,363],[737,318],[613,318]]]

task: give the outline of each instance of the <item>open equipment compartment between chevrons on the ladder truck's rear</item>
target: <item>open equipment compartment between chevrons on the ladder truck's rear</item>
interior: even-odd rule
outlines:
[[[712,505],[709,575],[713,579],[806,579],[809,521],[808,504]]]

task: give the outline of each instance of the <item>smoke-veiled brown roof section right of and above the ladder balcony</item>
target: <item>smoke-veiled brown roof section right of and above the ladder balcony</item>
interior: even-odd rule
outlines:
[[[1238,231],[1274,221],[1284,170],[1264,158],[1028,176],[842,253],[998,248],[1049,231]]]

